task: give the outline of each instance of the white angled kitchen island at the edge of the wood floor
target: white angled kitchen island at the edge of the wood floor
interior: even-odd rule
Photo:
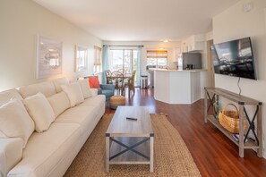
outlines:
[[[205,70],[155,70],[154,97],[168,104],[193,104],[201,99]]]

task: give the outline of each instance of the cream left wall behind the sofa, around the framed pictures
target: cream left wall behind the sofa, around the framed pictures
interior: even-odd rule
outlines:
[[[37,35],[63,42],[63,73],[46,80],[62,76],[75,80],[92,74],[93,46],[102,46],[102,41],[39,4],[1,0],[0,24],[0,91],[44,81],[36,80]],[[74,72],[75,45],[89,47],[87,72]]]

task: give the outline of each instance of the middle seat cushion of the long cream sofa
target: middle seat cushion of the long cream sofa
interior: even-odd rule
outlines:
[[[98,114],[95,106],[75,106],[60,114],[55,123],[79,123],[82,133],[90,127],[90,123],[94,121]]]

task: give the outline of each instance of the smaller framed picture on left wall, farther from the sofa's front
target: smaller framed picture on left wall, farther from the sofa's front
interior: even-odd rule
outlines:
[[[75,72],[86,72],[88,69],[88,47],[75,46]]]

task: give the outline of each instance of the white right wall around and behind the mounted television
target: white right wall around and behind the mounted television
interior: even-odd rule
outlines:
[[[243,5],[253,3],[253,9],[245,13]],[[231,6],[223,13],[213,18],[214,43],[225,42],[236,38],[251,37],[253,54],[258,74],[258,80],[241,79],[240,87],[242,95],[262,101],[262,129],[263,139],[266,142],[266,28],[265,28],[265,0],[242,0]],[[227,89],[238,93],[238,78],[223,75],[215,75],[215,85],[218,88]],[[266,151],[264,150],[264,157]]]

